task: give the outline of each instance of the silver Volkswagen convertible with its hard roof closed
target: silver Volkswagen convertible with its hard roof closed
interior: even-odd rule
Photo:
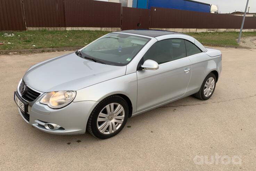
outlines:
[[[22,118],[44,132],[87,130],[105,139],[118,134],[129,117],[190,95],[209,99],[221,69],[221,52],[191,36],[119,31],[32,66],[14,101]]]

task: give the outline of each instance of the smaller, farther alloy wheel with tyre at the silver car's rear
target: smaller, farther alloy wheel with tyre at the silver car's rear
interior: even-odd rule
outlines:
[[[205,78],[199,92],[194,94],[197,99],[208,100],[213,95],[216,86],[216,76],[211,72]]]

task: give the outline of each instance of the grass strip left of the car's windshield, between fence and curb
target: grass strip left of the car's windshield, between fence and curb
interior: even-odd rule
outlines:
[[[13,33],[13,37],[5,37],[3,34]],[[109,32],[104,31],[19,31],[0,32],[0,50],[41,49],[79,47],[91,43],[93,40]],[[8,44],[8,42],[10,44]],[[33,46],[35,45],[35,46]]]

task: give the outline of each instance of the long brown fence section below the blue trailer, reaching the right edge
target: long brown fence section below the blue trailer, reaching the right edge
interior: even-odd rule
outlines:
[[[150,28],[236,28],[242,16],[167,8],[150,8]],[[246,17],[244,29],[256,28],[256,17]]]

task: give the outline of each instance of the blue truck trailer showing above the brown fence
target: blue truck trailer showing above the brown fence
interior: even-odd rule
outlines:
[[[160,7],[181,9],[198,12],[210,12],[210,4],[196,2],[191,0],[133,0],[133,6],[136,8]]]

